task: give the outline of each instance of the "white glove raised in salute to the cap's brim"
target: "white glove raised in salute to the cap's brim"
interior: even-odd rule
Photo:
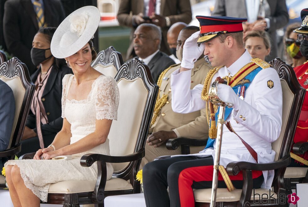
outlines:
[[[181,62],[181,67],[192,69],[194,68],[194,63],[201,56],[204,51],[204,44],[200,44],[198,47],[197,40],[200,37],[200,31],[192,34],[188,39],[186,39],[183,46],[183,58]]]

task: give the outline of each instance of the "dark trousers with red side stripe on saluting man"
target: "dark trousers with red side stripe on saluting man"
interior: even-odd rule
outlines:
[[[184,203],[182,201],[183,197],[187,196],[186,194],[190,194],[193,197],[192,189],[212,188],[212,178],[205,180],[196,179],[198,181],[195,181],[194,178],[191,178],[194,180],[192,180],[192,185],[190,189],[185,189],[185,192],[179,192],[179,184],[182,185],[181,182],[186,182],[183,179],[183,176],[181,174],[182,172],[185,172],[186,169],[191,170],[195,168],[196,170],[198,170],[198,167],[208,167],[211,165],[213,165],[212,157],[199,158],[195,156],[173,157],[147,163],[142,169],[143,191],[146,200],[146,206],[178,207],[181,206],[181,203]],[[258,177],[253,177],[253,188],[260,188],[264,178],[261,172],[255,172],[258,172]],[[206,177],[211,177],[213,175],[213,171],[212,174],[210,174],[211,173],[206,175]],[[243,186],[242,178],[241,180],[233,180],[231,177],[232,176],[230,176],[230,179],[232,180],[234,187],[237,189],[241,189]],[[167,192],[168,187],[169,196]],[[218,188],[227,188],[223,180],[218,180]],[[180,196],[182,196],[181,201]]]

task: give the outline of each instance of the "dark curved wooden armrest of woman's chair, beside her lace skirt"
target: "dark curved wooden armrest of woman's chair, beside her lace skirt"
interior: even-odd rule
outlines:
[[[105,163],[126,163],[142,159],[145,156],[145,148],[126,156],[110,156],[103,154],[85,154],[80,158],[80,164],[84,167],[90,167],[96,161]]]

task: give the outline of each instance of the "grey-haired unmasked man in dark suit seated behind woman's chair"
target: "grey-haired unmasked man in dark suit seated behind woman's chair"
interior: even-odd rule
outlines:
[[[153,80],[157,82],[162,71],[175,64],[168,55],[159,50],[162,41],[160,28],[154,24],[143,23],[136,28],[133,38],[136,58],[149,66]]]

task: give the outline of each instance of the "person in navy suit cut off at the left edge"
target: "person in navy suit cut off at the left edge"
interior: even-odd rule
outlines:
[[[0,151],[6,150],[10,142],[15,114],[15,99],[12,89],[0,80]],[[2,170],[7,158],[0,158]]]

